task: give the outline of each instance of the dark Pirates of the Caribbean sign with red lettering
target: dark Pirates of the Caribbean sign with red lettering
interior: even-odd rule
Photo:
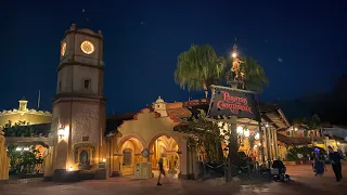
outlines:
[[[211,99],[208,116],[249,118],[259,120],[259,110],[255,94],[250,91],[213,86],[215,94]]]

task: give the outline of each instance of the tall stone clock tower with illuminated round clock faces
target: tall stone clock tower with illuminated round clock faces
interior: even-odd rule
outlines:
[[[51,132],[52,173],[105,161],[104,62],[101,31],[73,24],[61,41]]]

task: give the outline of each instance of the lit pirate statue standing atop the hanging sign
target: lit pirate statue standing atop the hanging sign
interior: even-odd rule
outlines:
[[[244,89],[244,67],[241,66],[244,62],[237,57],[237,44],[235,43],[232,51],[232,65],[228,73],[228,83],[232,87]]]

